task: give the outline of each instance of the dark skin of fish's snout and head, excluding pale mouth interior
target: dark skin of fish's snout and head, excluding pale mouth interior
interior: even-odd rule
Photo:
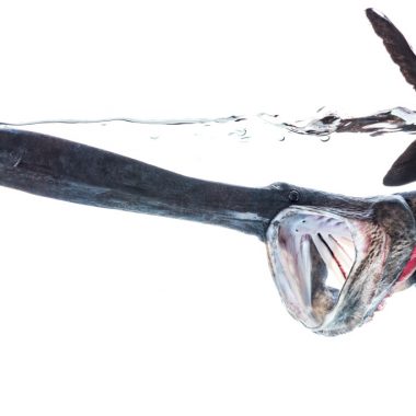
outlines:
[[[233,186],[25,130],[0,130],[0,185],[71,203],[222,226],[267,244],[274,218],[291,205],[343,216],[362,229],[368,245],[337,305],[323,310],[332,313],[325,326],[316,328],[325,335],[351,331],[372,316],[393,290],[416,242],[412,193],[353,198],[282,183]]]

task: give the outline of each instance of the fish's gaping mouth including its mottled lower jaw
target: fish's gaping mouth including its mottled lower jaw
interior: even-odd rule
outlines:
[[[370,221],[292,206],[270,224],[267,249],[289,313],[315,332],[361,324],[394,289],[379,291],[390,239]]]

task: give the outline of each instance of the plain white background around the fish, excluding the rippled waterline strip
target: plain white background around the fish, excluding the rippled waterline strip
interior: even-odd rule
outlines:
[[[415,107],[366,7],[416,45],[405,1],[4,1],[0,119]],[[184,146],[134,131],[51,132],[209,180],[349,195],[395,192],[381,178],[408,142]],[[287,314],[252,236],[4,188],[0,199],[1,415],[414,414],[413,289],[326,338]]]

